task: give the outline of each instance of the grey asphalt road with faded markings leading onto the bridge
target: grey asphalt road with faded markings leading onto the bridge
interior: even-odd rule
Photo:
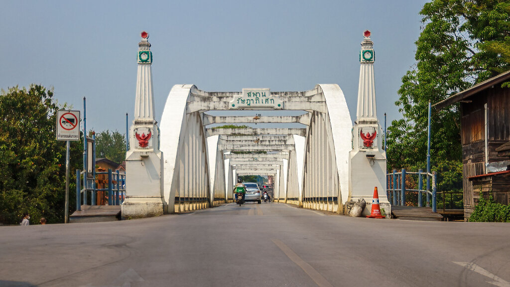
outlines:
[[[510,287],[510,224],[349,218],[278,203],[0,227],[0,286]]]

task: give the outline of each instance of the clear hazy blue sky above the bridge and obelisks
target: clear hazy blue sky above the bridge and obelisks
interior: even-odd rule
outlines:
[[[134,111],[140,32],[154,55],[159,121],[171,87],[205,91],[304,91],[338,84],[355,119],[363,32],[376,52],[377,114],[395,101],[415,63],[426,1],[4,1],[0,88],[54,87],[83,111],[87,129],[125,131]]]

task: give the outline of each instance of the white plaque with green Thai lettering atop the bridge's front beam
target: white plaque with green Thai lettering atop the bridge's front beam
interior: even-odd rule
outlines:
[[[243,89],[241,96],[234,96],[229,109],[283,109],[284,103],[271,95],[269,89]]]

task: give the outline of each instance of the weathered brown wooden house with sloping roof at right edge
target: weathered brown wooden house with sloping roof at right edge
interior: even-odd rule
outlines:
[[[509,81],[506,71],[434,105],[460,103],[465,220],[480,192],[510,203],[510,88],[501,87]]]

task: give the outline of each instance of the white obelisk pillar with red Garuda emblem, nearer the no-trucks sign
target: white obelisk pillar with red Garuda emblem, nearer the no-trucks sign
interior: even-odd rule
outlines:
[[[152,97],[152,53],[149,35],[138,43],[138,76],[135,119],[130,129],[130,150],[126,154],[126,197],[123,218],[159,216],[166,211],[163,196],[163,153],[159,149],[159,128],[154,118]]]

